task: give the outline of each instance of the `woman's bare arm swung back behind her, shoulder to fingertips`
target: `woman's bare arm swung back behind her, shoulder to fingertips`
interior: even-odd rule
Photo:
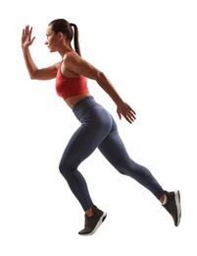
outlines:
[[[135,120],[134,110],[123,101],[122,97],[118,94],[113,84],[105,76],[103,72],[96,69],[93,65],[82,59],[76,53],[68,54],[65,59],[66,66],[75,73],[89,79],[93,79],[97,84],[114,100],[117,104],[117,112],[120,119],[123,117],[132,123]]]

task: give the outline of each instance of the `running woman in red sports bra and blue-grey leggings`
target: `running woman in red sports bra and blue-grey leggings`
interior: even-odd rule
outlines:
[[[60,53],[61,61],[42,69],[37,68],[29,51],[35,38],[31,34],[32,27],[26,26],[22,35],[22,48],[30,79],[56,79],[58,96],[63,97],[81,123],[68,143],[59,166],[84,210],[84,228],[78,233],[93,234],[107,216],[94,205],[86,181],[77,170],[78,165],[96,148],[120,173],[132,177],[152,192],[171,214],[173,223],[177,226],[181,216],[179,191],[165,191],[146,167],[129,158],[114,118],[90,95],[87,79],[95,80],[114,100],[120,119],[123,116],[129,123],[135,120],[134,110],[123,101],[105,74],[81,58],[77,27],[64,19],[54,20],[48,25],[45,44],[50,52]]]

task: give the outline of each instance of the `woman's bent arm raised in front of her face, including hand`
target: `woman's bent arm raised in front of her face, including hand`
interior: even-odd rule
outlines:
[[[29,50],[29,46],[33,43],[33,40],[35,38],[35,37],[31,38],[31,32],[32,32],[32,28],[30,28],[29,30],[29,27],[26,26],[22,34],[22,48],[23,48],[23,53],[25,58],[25,66],[28,71],[29,77],[30,79],[37,79],[37,80],[53,79],[56,77],[59,63],[56,63],[52,66],[42,68],[42,69],[37,68],[37,66],[35,65],[31,57],[30,50]]]

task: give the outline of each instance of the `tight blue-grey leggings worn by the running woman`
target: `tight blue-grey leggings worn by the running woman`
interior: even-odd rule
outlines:
[[[93,96],[81,99],[74,105],[73,111],[81,125],[67,145],[59,168],[84,211],[94,204],[77,167],[97,148],[117,170],[138,181],[158,199],[164,194],[151,172],[129,158],[114,118]]]

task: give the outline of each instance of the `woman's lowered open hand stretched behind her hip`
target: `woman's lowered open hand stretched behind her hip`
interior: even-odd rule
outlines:
[[[122,119],[122,115],[123,115],[123,117],[129,123],[134,122],[134,120],[136,119],[135,118],[135,115],[136,115],[135,111],[125,102],[118,105],[117,113],[118,113],[120,119]]]

